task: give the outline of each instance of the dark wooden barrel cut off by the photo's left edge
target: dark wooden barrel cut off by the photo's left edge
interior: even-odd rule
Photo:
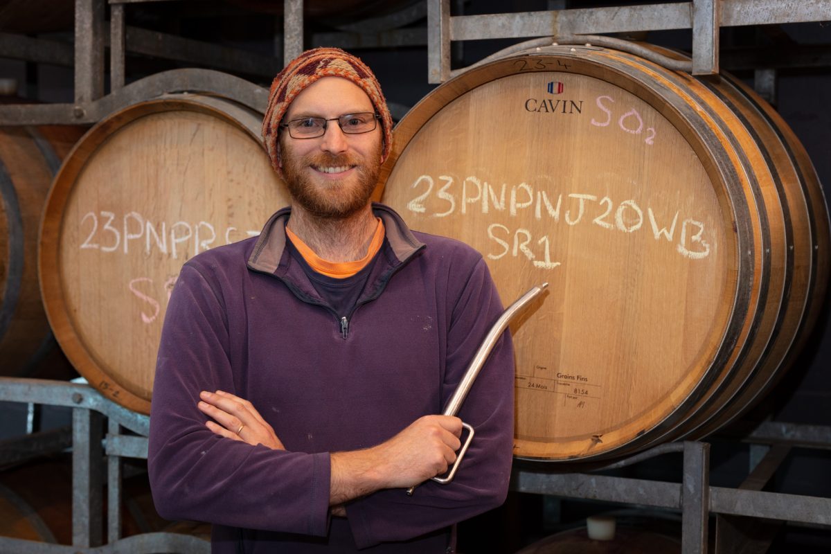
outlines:
[[[22,101],[2,98],[0,102]],[[61,159],[81,127],[0,127],[0,375],[74,375],[57,347],[37,286],[37,233]]]

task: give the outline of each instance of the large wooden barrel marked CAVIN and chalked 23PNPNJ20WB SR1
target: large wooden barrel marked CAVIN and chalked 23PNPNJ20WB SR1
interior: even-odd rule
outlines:
[[[614,458],[735,418],[829,274],[804,149],[730,76],[558,46],[476,67],[396,127],[376,198],[482,252],[512,327],[520,458]]]

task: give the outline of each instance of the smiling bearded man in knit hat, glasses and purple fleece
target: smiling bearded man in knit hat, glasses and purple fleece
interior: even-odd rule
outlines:
[[[302,53],[263,120],[291,207],[179,275],[150,482],[163,517],[214,524],[213,552],[455,552],[455,523],[504,501],[508,336],[461,419],[436,415],[502,306],[478,252],[371,203],[391,127],[360,60]],[[455,479],[429,481],[455,462],[462,419],[476,434]]]

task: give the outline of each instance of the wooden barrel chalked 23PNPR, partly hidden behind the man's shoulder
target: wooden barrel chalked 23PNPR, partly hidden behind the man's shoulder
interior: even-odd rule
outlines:
[[[126,408],[150,412],[182,264],[258,234],[288,203],[261,120],[207,96],[143,102],[93,127],[57,174],[39,255],[47,315],[78,372]]]

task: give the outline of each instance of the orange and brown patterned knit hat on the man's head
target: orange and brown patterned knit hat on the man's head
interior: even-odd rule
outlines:
[[[340,48],[314,48],[304,51],[288,66],[280,71],[271,84],[268,94],[268,108],[263,118],[263,142],[268,150],[268,158],[275,171],[282,177],[283,171],[278,162],[278,127],[288,105],[307,86],[321,77],[343,77],[360,86],[369,96],[378,115],[381,115],[381,130],[384,133],[384,146],[381,162],[390,154],[392,147],[392,116],[386,106],[381,85],[372,70],[366,64]]]

